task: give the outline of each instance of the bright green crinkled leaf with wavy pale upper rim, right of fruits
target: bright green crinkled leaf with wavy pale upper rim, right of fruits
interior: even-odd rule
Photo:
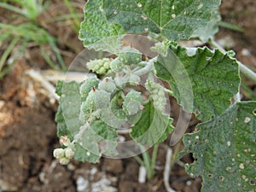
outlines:
[[[171,85],[184,110],[201,120],[223,113],[239,90],[236,60],[218,49],[186,49],[170,44],[166,56],[159,55],[154,67],[157,76]]]

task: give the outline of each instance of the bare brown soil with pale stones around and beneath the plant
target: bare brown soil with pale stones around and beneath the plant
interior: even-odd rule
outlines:
[[[52,2],[55,7],[63,6],[60,5],[62,1]],[[55,15],[56,10],[58,9],[51,7],[48,14]],[[249,67],[256,67],[256,1],[225,0],[221,6],[221,14],[223,20],[241,26],[244,33],[221,28],[217,39],[229,37],[228,43],[232,43],[229,47],[236,51],[238,60]],[[82,43],[73,31],[55,30],[54,27],[47,26],[55,37],[67,37],[63,41],[69,39],[72,47],[82,49]],[[64,31],[68,34],[63,33]],[[70,63],[77,53],[63,44],[63,41],[60,42],[60,47],[68,53],[65,61]],[[37,48],[29,49],[28,55],[36,55],[37,51]],[[147,183],[138,183],[139,164],[132,158],[102,158],[98,164],[73,160],[68,166],[59,165],[52,156],[53,149],[60,147],[54,120],[57,102],[50,101],[44,95],[42,87],[28,77],[25,71],[30,68],[44,69],[48,66],[42,58],[24,57],[0,80],[0,192],[166,192],[163,168],[168,143],[160,145],[155,177]],[[256,85],[248,80],[246,82],[249,89],[255,92]],[[243,99],[247,99],[246,91],[243,90],[242,93],[245,93]],[[190,130],[193,126],[191,125]],[[191,155],[187,155],[182,161],[193,162],[193,159]],[[183,166],[178,164],[172,167],[170,183],[177,191],[197,192],[201,189],[201,178],[189,177]]]

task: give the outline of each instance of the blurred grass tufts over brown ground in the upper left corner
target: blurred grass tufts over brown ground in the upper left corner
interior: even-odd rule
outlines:
[[[67,70],[82,49],[78,37],[85,1],[3,0],[0,2],[0,79],[17,60]],[[47,67],[44,65],[43,67]]]

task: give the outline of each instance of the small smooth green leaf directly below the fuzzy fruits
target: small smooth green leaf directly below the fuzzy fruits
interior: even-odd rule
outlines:
[[[166,134],[173,131],[172,119],[168,114],[154,108],[153,102],[144,105],[141,119],[132,127],[130,136],[140,144],[148,146],[161,143],[166,139]]]

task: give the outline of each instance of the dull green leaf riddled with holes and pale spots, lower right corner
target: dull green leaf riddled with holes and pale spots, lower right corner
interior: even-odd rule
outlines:
[[[184,150],[195,158],[186,171],[203,178],[201,191],[254,191],[255,112],[256,102],[239,102],[185,135]]]

